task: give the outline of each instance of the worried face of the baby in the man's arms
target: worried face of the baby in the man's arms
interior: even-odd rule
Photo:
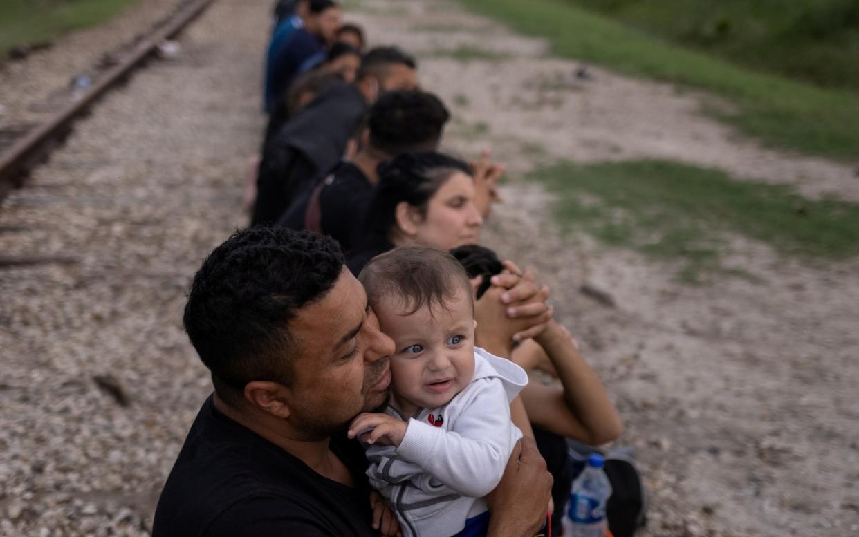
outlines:
[[[474,375],[472,298],[463,289],[442,305],[424,306],[406,315],[396,296],[376,304],[381,330],[393,339],[391,389],[394,406],[405,418],[421,408],[447,404]]]

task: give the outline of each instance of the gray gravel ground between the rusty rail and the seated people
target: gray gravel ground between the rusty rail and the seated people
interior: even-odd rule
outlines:
[[[0,268],[0,535],[149,533],[210,391],[181,309],[245,221],[268,9],[218,0],[0,209],[3,256],[42,261]]]

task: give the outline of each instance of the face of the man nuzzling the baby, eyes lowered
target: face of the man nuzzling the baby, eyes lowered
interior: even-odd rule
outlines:
[[[298,349],[289,419],[298,431],[328,437],[387,401],[393,341],[348,269],[325,297],[299,311],[289,331]]]

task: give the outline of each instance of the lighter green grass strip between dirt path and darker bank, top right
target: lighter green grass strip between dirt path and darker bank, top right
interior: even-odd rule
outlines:
[[[848,160],[859,156],[859,94],[738,67],[560,0],[462,1],[522,33],[545,37],[558,56],[727,98],[736,112],[709,113],[772,146]]]

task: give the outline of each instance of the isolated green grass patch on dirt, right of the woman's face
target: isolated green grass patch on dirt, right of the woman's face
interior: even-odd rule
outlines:
[[[719,258],[731,235],[805,259],[859,255],[859,204],[808,200],[784,185],[662,160],[562,162],[528,178],[557,195],[564,226],[606,244],[679,260],[685,281],[724,270]]]

